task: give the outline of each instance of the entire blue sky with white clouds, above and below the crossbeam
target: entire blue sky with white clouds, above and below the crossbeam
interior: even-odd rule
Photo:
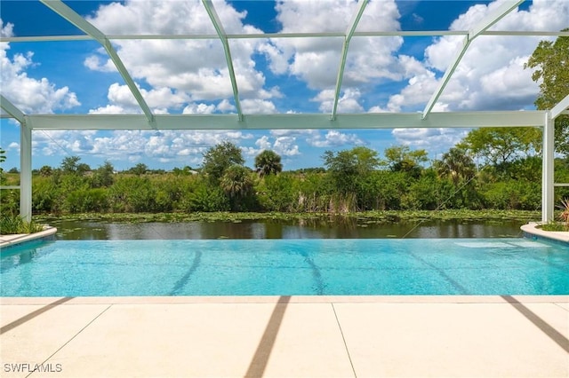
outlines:
[[[107,34],[213,34],[200,1],[65,2]],[[499,2],[498,2],[499,3]],[[357,2],[214,1],[228,33],[344,32]],[[497,6],[488,1],[371,0],[357,30],[467,30]],[[3,36],[82,35],[44,4],[2,1]],[[566,28],[569,2],[526,1],[493,28]],[[436,111],[533,109],[539,87],[523,64],[539,37],[480,36],[457,67]],[[422,111],[461,37],[355,37],[341,88],[339,113]],[[235,113],[219,41],[113,41],[156,114]],[[329,113],[341,52],[336,39],[230,41],[244,114]],[[28,114],[139,114],[140,108],[95,42],[0,43],[2,94]],[[0,121],[4,169],[19,168],[20,133]],[[143,162],[153,169],[201,164],[202,154],[229,140],[252,167],[272,149],[284,169],[321,166],[326,150],[367,146],[424,148],[431,158],[468,130],[40,131],[33,133],[34,168],[66,156],[116,169]]]

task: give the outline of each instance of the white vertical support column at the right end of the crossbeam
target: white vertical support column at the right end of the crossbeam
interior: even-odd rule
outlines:
[[[545,113],[545,125],[543,126],[543,162],[541,173],[541,222],[553,220],[553,163],[555,159],[554,144],[555,120],[551,119],[549,112]]]

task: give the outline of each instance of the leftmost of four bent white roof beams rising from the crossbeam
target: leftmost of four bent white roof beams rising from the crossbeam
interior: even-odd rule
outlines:
[[[110,43],[108,36],[102,33],[98,28],[95,28],[91,23],[89,23],[79,14],[77,14],[74,10],[69,8],[68,5],[63,4],[60,0],[40,0],[40,1],[48,8],[50,8],[53,12],[58,13],[65,20],[68,20],[68,22],[72,23],[77,28],[84,31],[84,33],[86,33],[87,35],[91,35],[92,38],[94,38],[100,44],[102,44],[102,46],[105,48],[105,50],[108,53],[108,57],[115,64],[118,73],[121,76],[123,76],[124,83],[126,83],[129,90],[131,90],[132,96],[134,96],[140,108],[142,109],[142,112],[144,112],[144,114],[146,115],[148,122],[150,123],[150,126],[153,126],[155,123],[154,114],[152,114],[152,111],[150,110],[150,107],[148,107],[148,104],[146,103],[145,99],[142,97],[139,88],[136,86],[136,83],[134,83],[134,80],[132,80],[132,77],[126,70],[126,67],[124,67],[123,61],[119,58],[115,48]]]

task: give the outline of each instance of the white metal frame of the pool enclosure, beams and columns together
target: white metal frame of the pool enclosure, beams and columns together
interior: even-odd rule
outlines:
[[[452,80],[453,74],[461,63],[469,47],[475,41],[483,43],[487,35],[509,35],[512,37],[555,37],[569,36],[569,32],[527,30],[506,27],[501,29],[500,21],[508,16],[509,12],[517,9],[525,0],[504,0],[497,2],[492,7],[492,12],[485,14],[481,20],[469,29],[465,30],[396,30],[387,25],[375,25],[363,28],[362,20],[373,12],[369,6],[373,2],[359,0],[354,4],[353,15],[341,32],[330,32],[324,29],[317,30],[318,25],[309,25],[307,30],[301,32],[282,31],[277,33],[250,33],[231,34],[224,25],[223,15],[218,13],[212,0],[201,1],[203,19],[211,22],[210,34],[139,34],[126,35],[106,34],[93,25],[87,17],[74,11],[71,3],[65,4],[60,0],[40,0],[47,8],[57,13],[61,18],[74,25],[82,34],[77,35],[31,35],[31,36],[2,36],[3,43],[24,42],[61,42],[68,41],[96,41],[100,43],[101,51],[107,54],[109,62],[122,76],[124,83],[136,99],[139,106],[138,112],[132,114],[26,114],[18,102],[10,98],[2,89],[0,93],[0,105],[2,118],[12,118],[20,123],[20,214],[24,219],[31,218],[32,209],[32,130],[293,130],[293,129],[396,129],[396,128],[478,128],[478,127],[540,127],[543,130],[543,171],[542,171],[542,196],[541,209],[542,221],[553,219],[554,210],[554,186],[553,178],[554,161],[554,121],[560,114],[569,114],[569,96],[547,111],[435,111],[437,101],[445,92],[447,84]],[[191,0],[188,0],[191,1]],[[196,2],[197,0],[194,0]],[[383,0],[375,0],[381,2]],[[217,3],[216,3],[217,4]],[[326,7],[325,1],[318,1],[316,6]],[[488,4],[487,2],[483,4]],[[218,6],[219,7],[219,6]],[[180,16],[183,17],[183,16]],[[567,15],[569,20],[569,15]],[[144,20],[142,20],[144,21]],[[329,20],[330,23],[345,25],[344,20]],[[546,20],[547,22],[547,20]],[[338,28],[336,28],[338,29]],[[429,100],[421,112],[397,113],[397,112],[361,112],[341,113],[339,102],[342,94],[342,80],[345,70],[350,64],[350,43],[357,40],[370,41],[400,36],[400,37],[442,37],[454,36],[461,38],[461,44],[454,52],[453,59],[448,62],[444,75],[437,80],[437,86],[430,93]],[[239,40],[284,40],[312,41],[317,39],[325,43],[329,40],[341,41],[337,43],[340,59],[337,61],[335,87],[333,89],[332,111],[329,113],[271,113],[271,114],[248,114],[244,112],[243,98],[239,92],[238,72],[234,67],[232,52],[236,52],[236,41]],[[156,114],[150,106],[148,99],[140,91],[140,87],[132,77],[130,67],[126,67],[123,59],[119,57],[116,48],[118,41],[210,41],[220,43],[226,59],[228,81],[232,91],[231,103],[233,113],[219,114]],[[197,58],[197,57],[196,57]],[[215,69],[215,68],[212,68]],[[445,110],[445,109],[443,109]]]

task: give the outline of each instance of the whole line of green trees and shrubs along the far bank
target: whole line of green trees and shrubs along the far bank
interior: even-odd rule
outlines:
[[[230,142],[212,146],[200,168],[150,170],[142,163],[116,172],[78,156],[33,172],[35,214],[85,212],[279,211],[346,213],[402,209],[526,209],[541,207],[541,156],[533,129],[469,132],[440,159],[392,146],[383,156],[365,146],[326,151],[323,167],[283,170],[266,150],[244,166]],[[539,130],[538,130],[539,131]],[[533,135],[535,134],[535,135]],[[484,161],[484,163],[478,163]],[[569,182],[569,158],[555,161],[556,181]],[[3,174],[4,182],[9,175]],[[18,191],[6,191],[2,212],[17,214]],[[569,196],[557,188],[557,197]]]

